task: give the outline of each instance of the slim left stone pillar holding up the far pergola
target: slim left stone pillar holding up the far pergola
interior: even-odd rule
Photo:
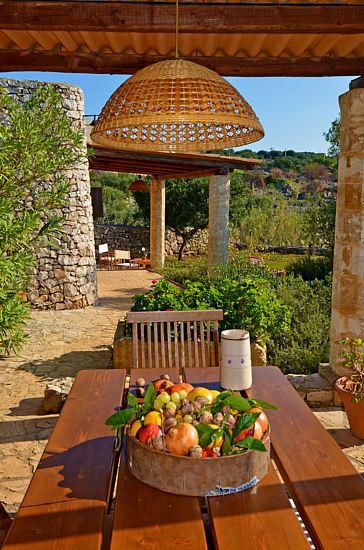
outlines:
[[[152,179],[150,185],[150,265],[152,269],[164,266],[165,207],[164,181]]]

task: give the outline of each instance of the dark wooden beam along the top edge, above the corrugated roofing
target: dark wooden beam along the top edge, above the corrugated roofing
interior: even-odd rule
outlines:
[[[0,28],[173,33],[174,3],[42,2],[0,3]],[[179,8],[180,33],[358,33],[364,31],[364,5],[253,5],[185,3]]]

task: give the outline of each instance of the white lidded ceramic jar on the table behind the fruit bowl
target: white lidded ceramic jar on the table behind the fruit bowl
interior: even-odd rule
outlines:
[[[220,385],[231,390],[247,390],[252,386],[250,336],[246,330],[221,333]]]

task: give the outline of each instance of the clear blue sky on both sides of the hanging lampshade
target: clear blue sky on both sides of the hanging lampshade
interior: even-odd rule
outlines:
[[[2,77],[68,82],[85,93],[86,113],[99,113],[111,93],[127,78],[121,75],[66,73],[0,73]],[[339,113],[338,96],[354,77],[229,78],[249,101],[265,129],[265,137],[251,146],[325,152],[323,138]]]

